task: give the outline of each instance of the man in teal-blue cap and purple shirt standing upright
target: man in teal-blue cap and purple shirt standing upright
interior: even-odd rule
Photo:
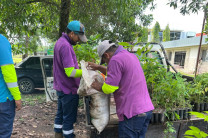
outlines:
[[[84,26],[79,21],[71,21],[66,33],[58,39],[54,47],[53,87],[57,91],[58,109],[55,117],[55,138],[73,138],[73,124],[77,118],[79,87],[82,70],[79,69],[72,45],[86,42]]]

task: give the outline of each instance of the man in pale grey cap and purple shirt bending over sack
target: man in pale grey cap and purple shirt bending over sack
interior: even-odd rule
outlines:
[[[98,55],[101,64],[107,63],[107,68],[91,62],[89,67],[107,73],[107,78],[104,84],[95,80],[92,87],[105,94],[114,94],[119,137],[144,138],[154,106],[138,58],[109,40],[100,43]]]

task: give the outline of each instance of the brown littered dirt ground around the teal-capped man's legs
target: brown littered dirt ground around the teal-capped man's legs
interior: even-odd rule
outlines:
[[[11,138],[53,138],[53,122],[57,105],[45,102],[44,91],[22,95],[23,107],[16,112]],[[83,103],[80,101],[77,123],[74,126],[77,138],[88,138],[89,129],[85,125]]]

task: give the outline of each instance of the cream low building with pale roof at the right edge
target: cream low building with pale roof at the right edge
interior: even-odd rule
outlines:
[[[192,37],[162,42],[168,54],[169,61],[179,72],[194,74],[200,38],[201,37]],[[208,36],[204,35],[202,39],[198,65],[199,74],[208,72],[208,42],[205,42],[206,38],[208,38]]]

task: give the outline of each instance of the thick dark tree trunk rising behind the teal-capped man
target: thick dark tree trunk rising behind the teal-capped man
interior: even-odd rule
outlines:
[[[70,2],[71,0],[61,0],[59,37],[62,35],[62,32],[65,32],[69,21]]]

